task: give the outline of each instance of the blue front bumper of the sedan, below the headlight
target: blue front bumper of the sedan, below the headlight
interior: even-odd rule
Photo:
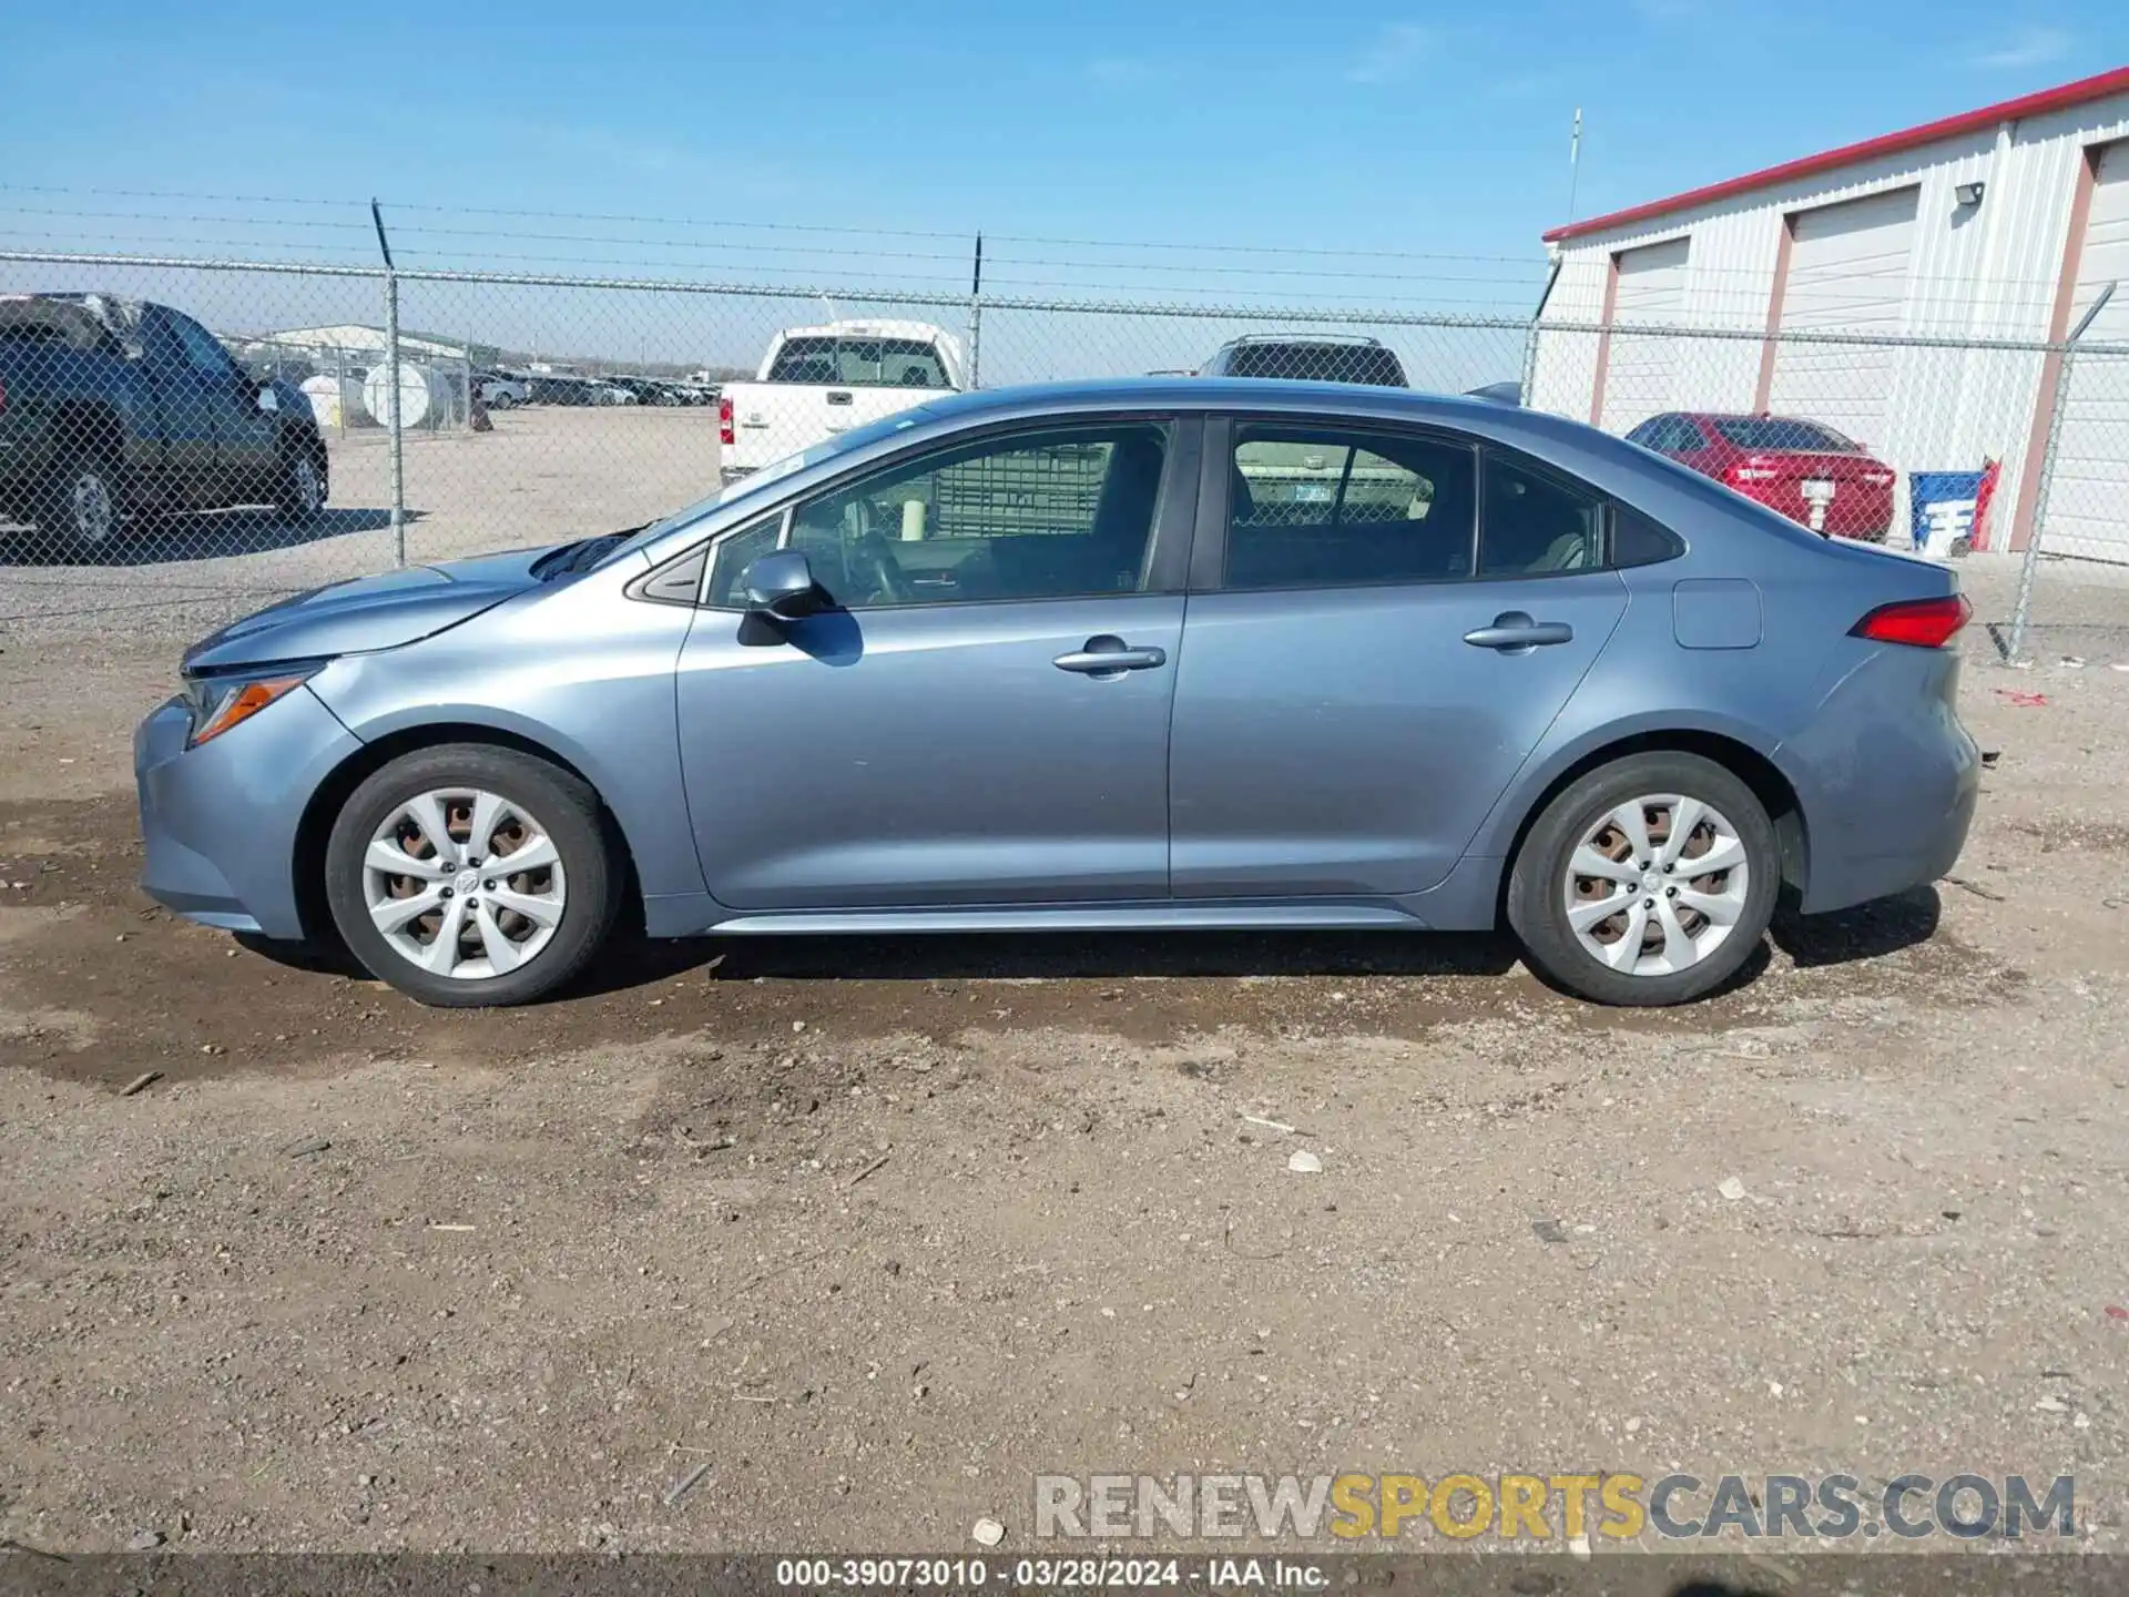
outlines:
[[[181,698],[134,730],[141,890],[204,926],[302,937],[296,828],[360,739],[309,688],[196,750],[189,732]]]

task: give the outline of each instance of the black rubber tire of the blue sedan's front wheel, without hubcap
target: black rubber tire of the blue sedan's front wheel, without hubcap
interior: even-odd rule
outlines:
[[[364,856],[370,837],[409,798],[451,788],[483,790],[522,805],[560,854],[566,882],[560,922],[545,948],[502,975],[426,971],[387,941],[368,911]],[[605,945],[620,901],[622,865],[600,824],[598,794],[547,760],[485,743],[441,743],[392,760],[349,794],[326,843],[326,903],[347,950],[377,979],[436,1007],[528,1003],[554,992]]]

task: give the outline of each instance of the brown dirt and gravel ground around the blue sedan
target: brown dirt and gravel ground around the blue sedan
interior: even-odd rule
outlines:
[[[1039,1471],[1914,1469],[2123,1544],[2129,656],[1971,628],[1957,877],[1690,1009],[1384,935],[432,1014],[136,892],[158,618],[0,635],[0,1537],[1026,1552]]]

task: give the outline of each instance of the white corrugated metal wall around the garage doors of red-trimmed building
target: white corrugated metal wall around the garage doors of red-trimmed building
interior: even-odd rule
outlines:
[[[1676,324],[1763,332],[1786,217],[1910,185],[1918,187],[1918,202],[1899,332],[2046,339],[2078,168],[2086,147],[2114,138],[2129,138],[2129,96],[1825,172],[1801,187],[1742,194],[1567,241],[1537,334],[1529,402],[1590,419],[1605,339],[1573,324],[1603,317],[1616,253],[1690,238]],[[1954,190],[1976,181],[1986,185],[1982,204],[1961,207]],[[1614,341],[1620,336],[1614,332]],[[1680,336],[1678,343],[1669,409],[1752,409],[1759,341]],[[1895,539],[1908,524],[1908,473],[1980,468],[1993,458],[2003,462],[1995,500],[2003,507],[1995,522],[2001,547],[2035,428],[2042,364],[2040,353],[2001,349],[1908,347],[1893,356],[1884,366],[1886,437],[1869,443],[1901,471]],[[2129,494],[2129,483],[2123,490]]]

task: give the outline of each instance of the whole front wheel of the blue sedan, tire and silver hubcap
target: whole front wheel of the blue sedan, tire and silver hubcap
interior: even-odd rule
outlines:
[[[326,901],[373,975],[422,1003],[526,1003],[607,941],[622,875],[598,796],[530,754],[417,750],[349,796]]]

